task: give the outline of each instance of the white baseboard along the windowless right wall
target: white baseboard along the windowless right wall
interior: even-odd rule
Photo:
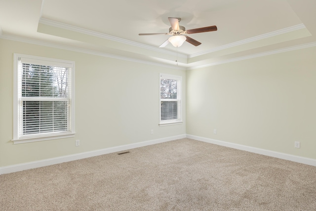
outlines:
[[[270,157],[274,157],[274,158],[280,158],[283,160],[293,161],[293,162],[297,162],[297,163],[301,163],[301,164],[307,164],[310,166],[316,166],[316,160],[311,159],[311,158],[305,158],[305,157],[300,157],[300,156],[295,156],[295,155],[260,149],[260,148],[256,148],[256,147],[250,147],[250,146],[246,146],[246,145],[215,140],[215,139],[211,139],[211,138],[204,138],[204,137],[200,137],[200,136],[196,136],[196,135],[187,134],[186,137],[191,138],[191,139],[195,139],[197,141],[203,141],[203,142],[207,142],[207,143],[211,143],[211,144],[217,144],[217,145],[230,147],[230,148],[234,148],[234,149],[239,149],[239,150],[243,150],[243,151],[247,151],[247,152],[253,152],[253,153],[266,155],[266,156],[270,156]]]

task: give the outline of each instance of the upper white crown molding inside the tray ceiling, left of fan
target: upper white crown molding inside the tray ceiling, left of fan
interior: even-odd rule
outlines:
[[[120,43],[124,43],[124,44],[129,44],[129,45],[133,45],[136,47],[141,47],[141,48],[145,48],[148,50],[153,50],[153,51],[157,51],[160,53],[165,53],[165,54],[169,54],[169,55],[177,55],[176,52],[173,51],[169,51],[169,50],[165,50],[165,49],[161,49],[158,47],[153,47],[147,44],[142,44],[139,42],[133,42],[133,41],[129,41],[129,40],[125,40],[125,39],[121,39],[121,38],[117,38],[111,35],[106,35],[103,33],[99,33],[99,32],[95,32],[95,31],[91,31],[91,30],[87,30],[87,29],[83,29],[80,27],[76,27],[76,26],[72,26],[72,25],[68,25],[68,24],[64,24],[64,23],[60,23],[60,22],[56,22],[56,21],[52,21],[52,20],[48,20],[45,18],[40,18],[39,23],[44,24],[44,25],[48,25],[48,26],[52,26],[52,27],[57,27],[57,28],[61,28],[61,29],[66,29],[66,30],[70,30],[73,32],[78,32],[81,34],[86,34],[86,35],[90,35],[90,36],[94,36],[94,37],[98,37],[98,38],[102,38],[102,39],[106,39],[106,40],[110,40],[110,41],[115,41],[115,42],[120,42]],[[185,58],[187,59],[188,56],[185,54],[181,54],[178,53],[178,57],[181,58]]]

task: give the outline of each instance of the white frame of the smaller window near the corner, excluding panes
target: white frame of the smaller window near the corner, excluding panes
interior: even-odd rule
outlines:
[[[180,82],[180,87],[177,87],[177,99],[161,99],[161,79],[169,79],[169,80],[177,80]],[[182,124],[182,76],[177,75],[169,75],[169,74],[159,74],[159,126],[170,126],[170,125],[179,125]],[[178,114],[176,120],[161,120],[161,102],[163,101],[177,101],[179,103],[178,106]]]

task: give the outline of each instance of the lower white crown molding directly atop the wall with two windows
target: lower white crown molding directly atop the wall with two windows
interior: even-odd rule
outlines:
[[[104,52],[95,51],[95,50],[88,50],[88,49],[73,47],[73,46],[68,46],[68,45],[61,45],[61,44],[55,44],[55,43],[50,43],[50,42],[37,41],[37,40],[21,38],[21,37],[16,37],[16,36],[0,35],[0,39],[17,41],[17,42],[25,42],[25,43],[30,43],[30,44],[42,45],[42,46],[46,46],[46,47],[54,47],[54,48],[59,48],[59,49],[63,49],[63,50],[76,51],[79,53],[87,53],[87,54],[92,54],[92,55],[97,55],[97,56],[104,56],[104,57],[109,57],[109,58],[114,58],[114,59],[121,59],[121,60],[125,60],[125,61],[155,65],[155,66],[172,68],[172,69],[177,69],[177,70],[186,70],[185,67],[181,67],[181,66],[177,66],[177,65],[168,65],[168,64],[158,63],[158,62],[150,62],[150,61],[135,59],[135,58],[126,57],[126,56],[118,56],[115,54],[104,53]]]

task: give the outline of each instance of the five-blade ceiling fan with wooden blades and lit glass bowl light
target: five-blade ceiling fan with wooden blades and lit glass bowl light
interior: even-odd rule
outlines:
[[[187,36],[188,34],[217,31],[216,26],[207,26],[207,27],[202,27],[202,28],[197,28],[197,29],[186,30],[186,28],[179,25],[181,18],[168,18],[168,20],[171,25],[171,27],[169,28],[169,33],[149,33],[149,34],[139,34],[139,35],[172,35],[172,37],[170,37],[168,40],[163,42],[159,47],[164,47],[169,42],[175,47],[180,47],[185,41],[195,46],[201,44],[201,42],[198,42],[190,38],[189,36]]]

